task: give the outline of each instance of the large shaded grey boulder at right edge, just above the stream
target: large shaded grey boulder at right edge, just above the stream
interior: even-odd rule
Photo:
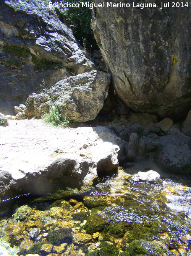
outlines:
[[[154,160],[163,170],[191,173],[191,139],[187,136],[166,135],[159,138]]]

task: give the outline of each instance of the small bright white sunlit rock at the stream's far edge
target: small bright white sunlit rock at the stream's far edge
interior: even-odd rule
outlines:
[[[148,172],[138,172],[137,174],[131,177],[133,181],[146,181],[149,183],[158,183],[161,181],[159,173],[150,170]]]

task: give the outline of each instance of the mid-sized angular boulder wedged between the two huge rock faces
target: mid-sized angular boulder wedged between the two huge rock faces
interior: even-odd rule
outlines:
[[[26,116],[41,118],[55,105],[62,118],[76,122],[93,120],[107,98],[110,74],[92,70],[56,83],[46,93],[32,93],[27,99]]]

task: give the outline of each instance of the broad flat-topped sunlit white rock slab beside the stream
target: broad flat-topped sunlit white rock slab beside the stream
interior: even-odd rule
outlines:
[[[1,199],[91,186],[117,170],[123,145],[107,127],[63,129],[37,119],[10,120],[0,127],[0,140]]]

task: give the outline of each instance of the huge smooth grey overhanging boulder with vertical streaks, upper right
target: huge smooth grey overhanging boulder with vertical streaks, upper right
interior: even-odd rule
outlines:
[[[133,0],[129,8],[95,0],[102,2],[91,26],[117,94],[137,112],[185,116],[191,106],[190,3],[184,10],[160,9],[161,2],[151,0],[158,8],[141,9],[133,7]]]

